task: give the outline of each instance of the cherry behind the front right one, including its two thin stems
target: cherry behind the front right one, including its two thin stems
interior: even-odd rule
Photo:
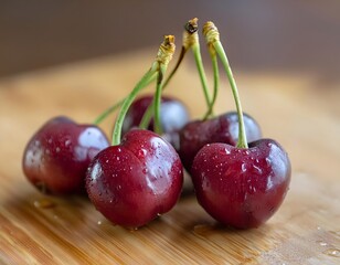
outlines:
[[[184,40],[184,47],[192,46],[195,57],[200,59],[200,50],[198,44],[196,32],[190,34],[190,29],[196,29],[196,19],[190,20],[187,25],[187,36]],[[203,66],[198,67],[202,81],[203,91],[205,92],[205,99],[208,103],[208,112],[202,120],[194,120],[187,124],[179,132],[179,148],[178,152],[182,159],[183,166],[190,173],[192,161],[196,152],[206,144],[225,142],[235,145],[238,140],[238,117],[237,113],[231,112],[219,116],[213,116],[213,106],[217,97],[219,91],[219,65],[216,60],[216,52],[208,43],[209,52],[212,59],[214,73],[214,91],[212,97],[206,91],[206,82]],[[201,60],[196,60],[198,66]],[[201,70],[201,71],[200,71]],[[244,115],[245,134],[249,141],[261,138],[261,128],[258,124],[249,115]]]

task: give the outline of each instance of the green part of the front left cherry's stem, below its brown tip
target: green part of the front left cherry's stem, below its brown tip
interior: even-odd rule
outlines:
[[[155,74],[156,73],[157,73],[157,71],[153,67],[151,67],[142,76],[142,78],[137,83],[137,85],[135,86],[132,92],[129,94],[129,96],[127,96],[125,98],[125,100],[123,102],[123,105],[120,107],[120,112],[118,114],[118,118],[116,119],[116,123],[115,123],[114,132],[113,132],[113,141],[111,141],[111,144],[114,146],[120,144],[123,123],[124,123],[125,116],[126,116],[130,105],[135,100],[135,98],[136,98],[137,94],[140,92],[140,89],[144,88],[150,82],[155,81],[155,78],[156,78]]]

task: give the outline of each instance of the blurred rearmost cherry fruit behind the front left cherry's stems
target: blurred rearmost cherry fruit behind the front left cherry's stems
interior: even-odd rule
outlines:
[[[145,112],[152,103],[153,95],[144,95],[137,98],[130,106],[123,124],[123,134],[134,127],[138,127]],[[189,121],[189,112],[184,104],[171,96],[161,97],[160,123],[164,138],[176,148],[179,146],[178,131]],[[148,126],[153,130],[153,119]]]

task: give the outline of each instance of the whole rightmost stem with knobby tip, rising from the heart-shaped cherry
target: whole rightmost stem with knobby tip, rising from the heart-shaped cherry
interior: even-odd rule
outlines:
[[[211,45],[214,47],[216,54],[219,55],[225,73],[227,75],[233,97],[235,100],[236,105],[236,110],[237,110],[237,117],[238,117],[238,140],[237,140],[237,147],[238,148],[248,148],[247,139],[246,139],[246,134],[245,134],[245,128],[244,128],[244,120],[243,120],[243,112],[242,112],[242,106],[241,106],[241,99],[238,95],[238,89],[236,86],[236,82],[234,80],[234,75],[232,72],[232,68],[230,66],[227,56],[224,52],[223,45],[220,42],[220,33],[217,28],[214,25],[213,22],[209,21],[204,24],[203,28],[203,34],[205,35],[206,40]]]

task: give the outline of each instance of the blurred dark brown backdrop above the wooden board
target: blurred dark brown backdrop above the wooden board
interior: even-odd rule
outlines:
[[[0,78],[158,46],[163,34],[180,45],[194,17],[215,22],[235,68],[339,78],[339,0],[0,0]]]

